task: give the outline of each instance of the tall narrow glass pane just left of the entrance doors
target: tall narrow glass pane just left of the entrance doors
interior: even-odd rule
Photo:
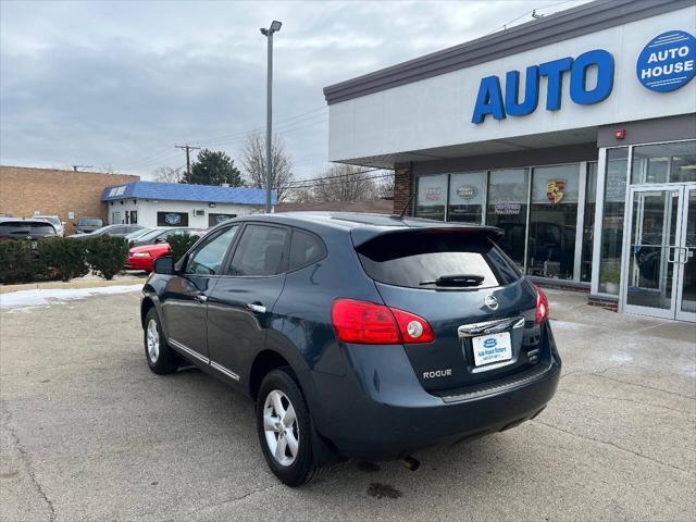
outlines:
[[[619,282],[621,278],[621,247],[623,245],[623,212],[625,209],[627,167],[627,148],[607,150],[599,291],[611,295],[619,295]]]

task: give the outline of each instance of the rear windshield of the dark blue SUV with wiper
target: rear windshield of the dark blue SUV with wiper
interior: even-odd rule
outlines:
[[[368,275],[387,285],[481,289],[509,285],[521,276],[514,263],[483,234],[387,234],[357,250]],[[465,283],[450,283],[452,279]]]

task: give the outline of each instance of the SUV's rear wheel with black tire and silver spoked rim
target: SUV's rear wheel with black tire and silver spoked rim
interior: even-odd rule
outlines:
[[[312,450],[313,427],[307,402],[291,372],[283,366],[263,378],[257,398],[257,431],[273,474],[284,484],[299,487],[316,478],[322,469]],[[290,411],[295,414],[288,417]]]

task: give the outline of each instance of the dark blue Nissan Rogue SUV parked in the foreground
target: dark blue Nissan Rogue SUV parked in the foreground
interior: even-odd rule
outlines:
[[[271,470],[298,486],[346,458],[513,427],[554,396],[548,301],[498,228],[353,213],[225,222],[142,289],[148,365],[183,360],[257,403]]]

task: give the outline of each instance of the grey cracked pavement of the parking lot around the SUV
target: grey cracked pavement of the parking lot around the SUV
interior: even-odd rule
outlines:
[[[301,489],[266,470],[251,402],[150,373],[137,293],[3,309],[0,519],[694,520],[694,325],[548,295],[564,366],[540,417]]]

